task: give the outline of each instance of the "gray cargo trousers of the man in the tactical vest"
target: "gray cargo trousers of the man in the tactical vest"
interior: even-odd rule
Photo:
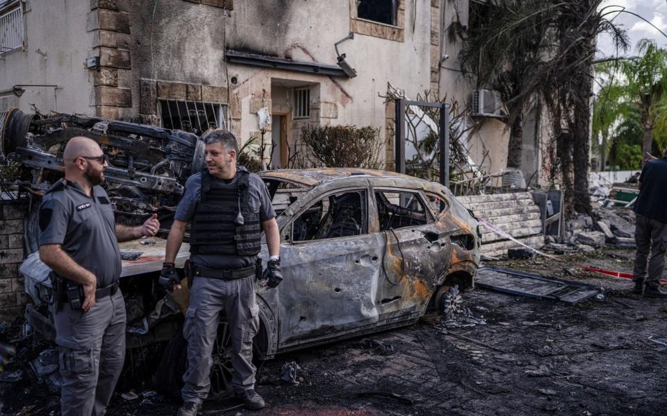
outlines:
[[[255,275],[222,280],[197,276],[190,289],[183,336],[188,340],[188,370],[183,374],[183,401],[202,403],[211,388],[213,344],[220,312],[231,331],[231,365],[234,391],[254,388],[256,368],[252,364],[252,338],[259,329],[259,307],[255,298]]]

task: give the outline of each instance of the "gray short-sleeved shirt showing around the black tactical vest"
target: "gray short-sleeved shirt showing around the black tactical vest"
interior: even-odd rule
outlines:
[[[246,171],[243,166],[238,166],[238,170]],[[215,180],[220,180],[214,177]],[[229,181],[229,184],[235,183],[237,177]],[[220,180],[222,181],[222,180]],[[224,182],[224,181],[222,181]],[[226,182],[227,183],[227,182]],[[259,220],[264,222],[276,216],[276,211],[271,204],[271,198],[261,177],[250,173],[248,178],[249,187],[249,205],[253,212],[259,213]],[[201,173],[195,173],[188,177],[186,181],[186,191],[183,198],[176,208],[174,219],[189,223],[192,216],[195,215],[195,208],[201,195]],[[235,225],[231,224],[232,227]],[[190,254],[190,260],[195,264],[210,268],[244,268],[254,265],[254,256],[235,256],[224,254]]]

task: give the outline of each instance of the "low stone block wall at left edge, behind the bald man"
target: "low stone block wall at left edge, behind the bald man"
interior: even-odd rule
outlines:
[[[0,200],[0,322],[22,316],[28,302],[19,275],[27,211],[27,200]]]

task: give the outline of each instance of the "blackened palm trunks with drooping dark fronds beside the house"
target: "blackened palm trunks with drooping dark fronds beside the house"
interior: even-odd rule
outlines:
[[[625,49],[625,31],[607,18],[602,0],[489,3],[493,19],[471,30],[459,59],[478,85],[492,85],[503,96],[511,130],[508,166],[520,164],[527,103],[543,99],[553,120],[566,211],[588,212],[595,40],[600,33],[610,33],[616,46]]]

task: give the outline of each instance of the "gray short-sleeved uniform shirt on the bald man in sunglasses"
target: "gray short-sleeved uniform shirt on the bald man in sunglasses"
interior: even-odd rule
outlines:
[[[59,186],[61,182],[53,187]],[[76,182],[47,193],[40,206],[39,243],[60,244],[69,257],[97,277],[98,288],[120,277],[115,218],[102,187],[92,188],[92,198]]]

